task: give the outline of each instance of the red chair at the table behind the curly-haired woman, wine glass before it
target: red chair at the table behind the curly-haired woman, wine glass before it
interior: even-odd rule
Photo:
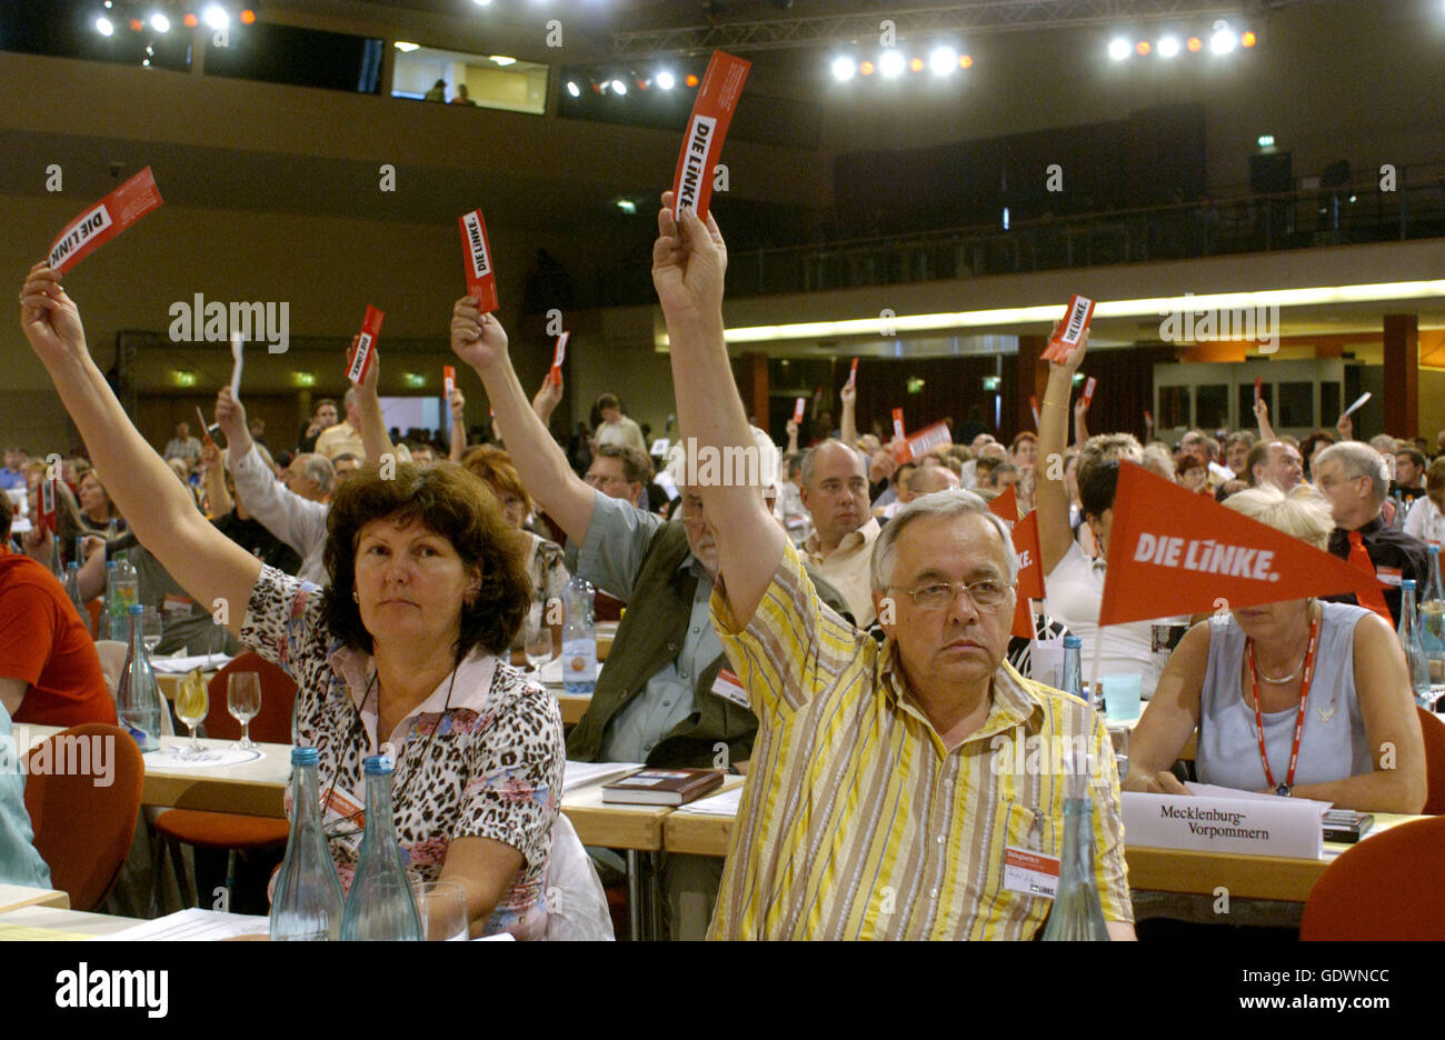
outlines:
[[[241,725],[225,706],[228,679],[234,672],[256,672],[262,680],[262,709],[251,719],[253,741],[264,744],[290,744],[290,715],[296,702],[296,683],[280,667],[272,664],[250,650],[241,653],[215,673],[208,688],[210,711],[205,716],[205,732],[217,740],[240,740]],[[236,875],[236,854],[251,852],[285,845],[290,825],[283,819],[266,816],[243,816],[240,813],[199,812],[197,809],[168,809],[156,816],[156,849],[153,862],[155,898],[160,894],[160,871],[165,870],[165,854],[171,851],[171,862],[181,887],[181,898],[195,906],[195,891],[186,878],[182,845],[202,849],[224,849],[227,858],[227,887]],[[152,903],[155,906],[155,901]]]

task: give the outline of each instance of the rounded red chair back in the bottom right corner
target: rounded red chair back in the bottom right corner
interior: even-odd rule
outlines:
[[[1445,936],[1445,816],[1410,820],[1340,854],[1315,881],[1299,937]]]

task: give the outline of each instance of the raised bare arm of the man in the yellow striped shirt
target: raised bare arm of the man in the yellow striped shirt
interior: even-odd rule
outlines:
[[[727,246],[712,215],[708,214],[707,227],[691,209],[683,209],[681,222],[675,221],[672,192],[663,194],[657,241],[652,247],[652,282],[668,322],[678,439],[689,449],[695,443],[699,458],[704,452],[746,458],[750,449],[756,451],[722,339],[725,270]],[[698,490],[717,534],[733,618],[746,625],[777,572],[788,536],[767,511],[762,488],[724,480],[720,487]]]

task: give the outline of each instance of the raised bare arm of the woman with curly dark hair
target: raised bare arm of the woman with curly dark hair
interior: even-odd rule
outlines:
[[[75,302],[43,263],[30,269],[20,292],[20,328],[136,537],[194,599],[207,607],[224,602],[227,627],[238,634],[260,560],[201,516],[171,467],[130,423],[91,360]]]

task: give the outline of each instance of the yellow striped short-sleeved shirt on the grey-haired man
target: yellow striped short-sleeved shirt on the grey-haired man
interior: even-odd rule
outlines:
[[[746,631],[721,586],[712,621],[759,731],[709,937],[1032,937],[1049,900],[1004,888],[1004,848],[1061,855],[1061,740],[1105,763],[1094,871],[1104,917],[1133,922],[1118,774],[1092,708],[1004,663],[984,725],[945,753],[892,643],[824,607],[790,546]]]

